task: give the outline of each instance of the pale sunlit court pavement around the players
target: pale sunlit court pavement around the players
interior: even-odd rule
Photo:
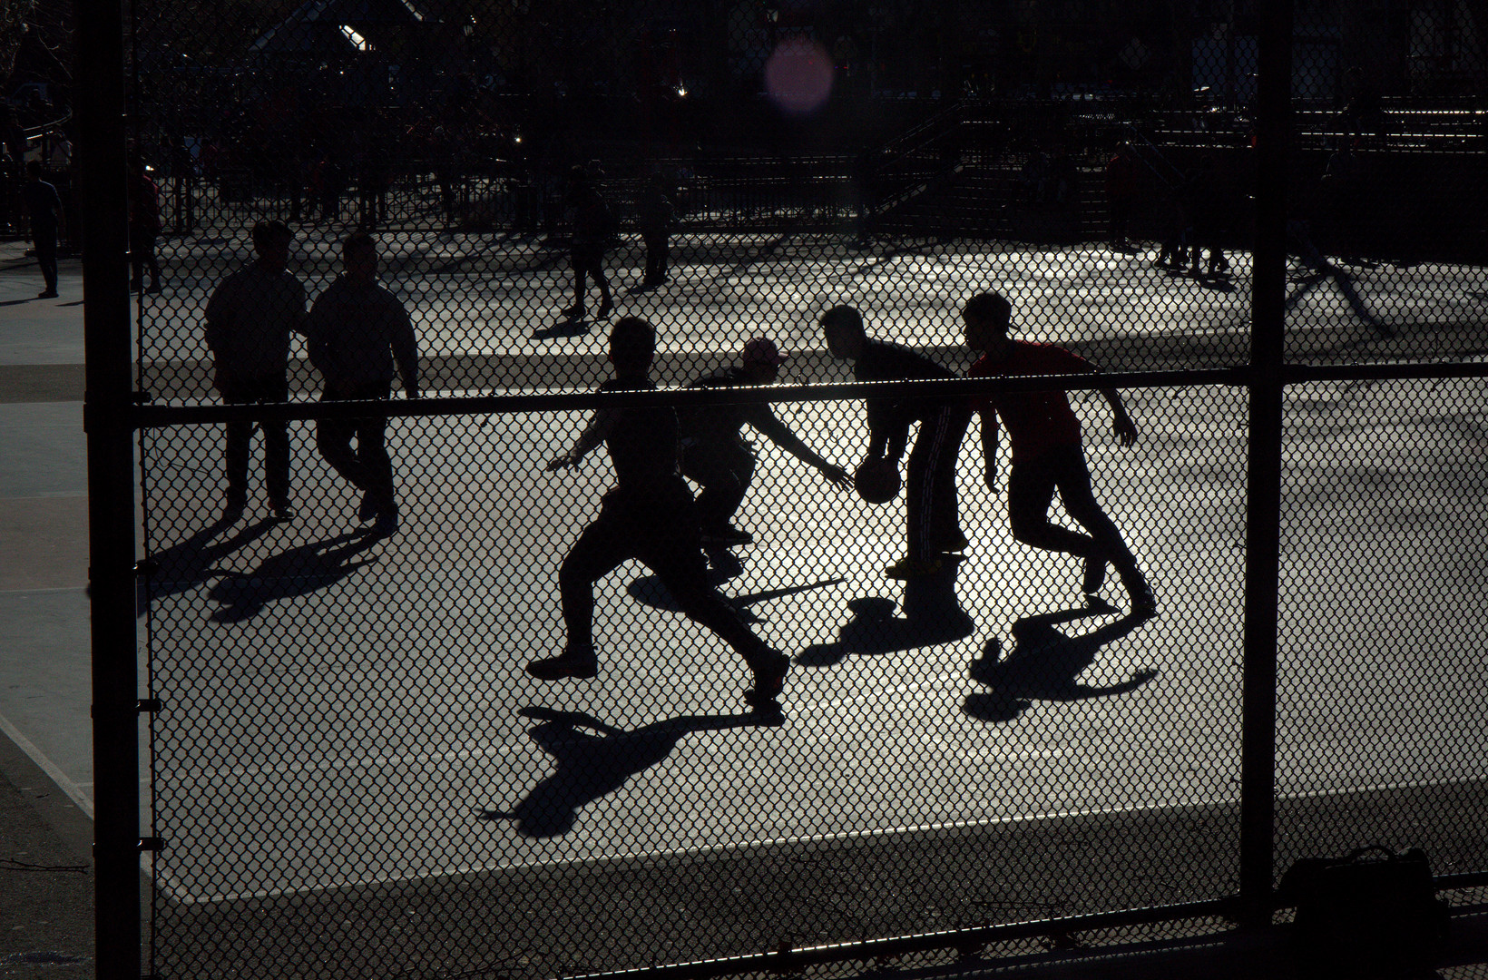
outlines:
[[[778,251],[772,260],[789,262]],[[1187,351],[1177,363],[1195,351],[1231,360],[1244,351],[1234,346],[1248,315],[1242,269],[1226,291],[1100,250],[876,260],[804,251],[796,262],[820,272],[793,272],[799,287],[759,263],[698,266],[674,294],[626,299],[622,312],[658,320],[668,352],[692,355],[676,363],[699,370],[723,360],[719,338],[754,330],[817,351],[814,315],[833,302],[862,302],[881,335],[951,357],[957,299],[981,286],[1015,296],[1031,336],[1088,339],[1125,366],[1140,366],[1144,344],[1178,351],[1174,338]],[[1470,349],[1476,269],[1370,272],[1382,286],[1360,275],[1357,294],[1370,311],[1390,311],[1397,336],[1378,339],[1350,320],[1345,296],[1315,288],[1293,306],[1295,351],[1420,358]],[[0,266],[0,302],[30,288],[24,275]],[[923,278],[926,293],[906,294],[906,275]],[[415,302],[426,358],[570,355],[586,367],[576,387],[586,387],[603,370],[603,327],[534,338],[552,311],[512,302],[539,296],[555,311],[567,302],[561,277],[561,263],[522,272],[504,287],[504,306],[496,287],[484,305],[466,303],[448,280],[426,288]],[[1430,277],[1452,286],[1428,288]],[[146,315],[153,303],[168,303],[156,315],[170,312],[147,338],[174,364],[162,376],[196,379],[192,317],[205,280],[196,287],[173,271],[167,283],[146,299]],[[80,308],[65,305],[77,299],[73,265],[58,300],[0,306],[0,376],[43,396],[0,397],[9,626],[0,721],[88,806],[83,443],[80,391],[70,387]],[[792,379],[833,376],[818,354],[792,367]],[[467,381],[454,369],[448,379]],[[1472,653],[1482,647],[1481,604],[1418,596],[1418,583],[1443,570],[1452,581],[1484,580],[1481,543],[1457,523],[1463,495],[1479,485],[1481,443],[1463,437],[1461,413],[1481,412],[1481,388],[1442,382],[1428,402],[1411,385],[1309,385],[1290,396],[1283,574],[1289,595],[1305,596],[1284,604],[1283,623],[1280,791],[1302,802],[1283,845],[1292,855],[1330,840],[1315,800],[1357,809],[1364,825],[1390,800],[1420,807],[1421,836],[1439,852],[1481,865],[1481,842],[1458,839],[1454,809],[1482,796],[1478,733],[1488,718],[1478,699],[1460,696],[1488,675]],[[469,390],[479,388],[457,388]],[[199,391],[182,381],[156,394]],[[1214,821],[1234,819],[1245,406],[1229,388],[1128,400],[1146,433],[1131,451],[1110,442],[1097,400],[1077,406],[1089,419],[1098,494],[1158,586],[1162,614],[1146,623],[1085,608],[1073,561],[1009,540],[1000,503],[981,486],[975,436],[960,474],[972,547],[917,586],[879,574],[902,544],[897,504],[839,495],[766,448],[740,516],[759,543],[740,550],[743,568],[722,587],[796,660],[784,720],[769,726],[741,714],[743,665],[673,613],[638,565],[597,593],[600,678],[545,686],[521,671],[561,642],[557,562],[609,477],[598,457],[571,474],[542,471],[577,418],[394,424],[405,518],[388,540],[360,534],[354,501],[320,464],[308,425],[295,428],[302,516],[292,525],[257,512],[216,525],[217,433],[152,434],[152,523],[141,544],[162,567],[141,595],[141,623],[150,622],[153,690],[167,705],[153,760],[158,816],[174,842],[159,879],[190,903],[741,845],[827,842],[866,854],[875,840],[924,846],[972,834],[998,849],[1009,834],[1037,839],[1071,818],[1101,854],[1140,846],[1162,861],[1165,849],[1192,846],[1174,827],[1208,825],[1213,836]],[[857,407],[847,409],[781,415],[851,464],[863,436]],[[1123,602],[1119,586],[1109,595]],[[1007,663],[1036,651],[1054,666],[1009,677],[990,650]],[[1442,690],[1433,660],[1449,665],[1457,696]],[[1356,683],[1318,683],[1336,678],[1339,663]],[[1381,692],[1409,724],[1373,709]],[[272,739],[253,735],[260,730]],[[1443,802],[1409,791],[1421,785],[1455,793]],[[251,854],[225,855],[214,842],[251,837],[265,800],[295,819]],[[1155,836],[1143,839],[1140,827]],[[1039,874],[1068,877],[1088,860],[1088,851],[1067,852]],[[1110,860],[1120,867],[1119,855]],[[1190,882],[1198,894],[1232,886],[1228,861],[1207,874]]]

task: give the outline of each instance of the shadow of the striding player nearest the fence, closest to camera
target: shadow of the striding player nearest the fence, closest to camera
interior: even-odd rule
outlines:
[[[626,732],[582,711],[531,706],[518,714],[542,723],[527,735],[554,757],[557,770],[510,810],[482,810],[481,819],[513,821],[524,837],[568,833],[579,810],[667,758],[686,735],[778,723],[757,714],[682,715]]]

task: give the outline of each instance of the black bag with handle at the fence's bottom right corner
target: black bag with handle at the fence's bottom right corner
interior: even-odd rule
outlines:
[[[1320,977],[1420,976],[1446,941],[1448,907],[1420,848],[1302,858],[1281,876],[1277,904],[1296,909],[1298,956]]]

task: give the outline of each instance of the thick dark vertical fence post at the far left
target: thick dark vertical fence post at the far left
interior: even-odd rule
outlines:
[[[134,436],[125,211],[124,13],[77,0],[79,196],[92,599],[94,868],[100,980],[140,977],[138,680],[134,638]]]

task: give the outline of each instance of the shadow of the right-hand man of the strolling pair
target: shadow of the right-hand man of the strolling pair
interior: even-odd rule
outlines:
[[[211,622],[241,623],[262,613],[269,602],[310,595],[335,584],[375,562],[376,558],[351,559],[381,540],[366,531],[348,531],[271,555],[250,573],[223,576],[207,593],[220,604],[211,614]]]

